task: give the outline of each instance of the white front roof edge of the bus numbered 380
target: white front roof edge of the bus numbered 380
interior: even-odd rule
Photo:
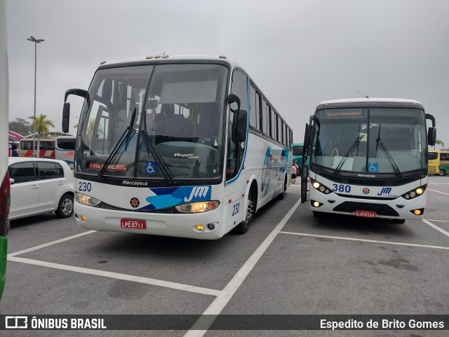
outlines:
[[[351,106],[413,106],[424,109],[424,106],[415,99],[402,98],[347,98],[347,99],[330,99],[323,101],[316,106],[316,110],[333,107],[351,107]]]

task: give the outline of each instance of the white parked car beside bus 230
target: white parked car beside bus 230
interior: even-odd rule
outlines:
[[[60,218],[72,216],[74,177],[67,163],[43,158],[8,159],[10,220],[48,212]]]

